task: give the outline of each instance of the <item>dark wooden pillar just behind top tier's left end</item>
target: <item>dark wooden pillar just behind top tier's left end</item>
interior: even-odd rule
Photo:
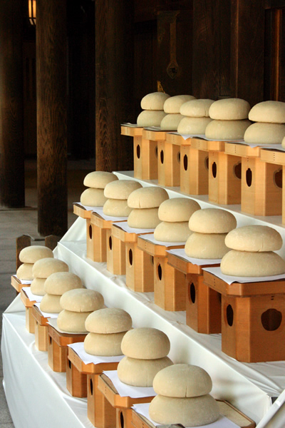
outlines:
[[[133,169],[133,146],[120,123],[133,117],[133,1],[95,1],[95,144],[97,170]],[[145,63],[147,66],[147,63]]]

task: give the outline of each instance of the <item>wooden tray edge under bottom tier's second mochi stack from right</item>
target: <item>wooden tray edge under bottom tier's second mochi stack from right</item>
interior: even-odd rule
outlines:
[[[108,399],[108,402],[110,402],[113,407],[120,407],[124,409],[129,409],[133,406],[133,404],[149,403],[153,398],[121,397],[117,389],[115,389],[113,382],[105,374],[100,374],[98,378],[98,389],[100,389],[100,391],[104,394],[104,396]]]

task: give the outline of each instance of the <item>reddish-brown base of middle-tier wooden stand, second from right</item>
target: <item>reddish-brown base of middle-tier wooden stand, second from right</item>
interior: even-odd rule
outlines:
[[[203,275],[186,275],[186,324],[199,333],[221,332],[221,295],[204,284]]]

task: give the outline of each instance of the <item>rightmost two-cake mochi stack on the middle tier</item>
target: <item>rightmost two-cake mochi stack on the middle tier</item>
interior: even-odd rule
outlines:
[[[224,275],[263,277],[285,273],[285,261],[274,253],[282,247],[281,235],[274,228],[237,228],[228,233],[225,243],[231,250],[222,258]]]

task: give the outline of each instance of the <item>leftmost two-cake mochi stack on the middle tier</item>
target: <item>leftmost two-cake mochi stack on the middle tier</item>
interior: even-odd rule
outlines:
[[[105,171],[93,171],[86,175],[83,184],[88,187],[81,193],[82,205],[90,207],[103,207],[107,198],[104,196],[104,189],[108,183],[118,180],[117,175]]]

